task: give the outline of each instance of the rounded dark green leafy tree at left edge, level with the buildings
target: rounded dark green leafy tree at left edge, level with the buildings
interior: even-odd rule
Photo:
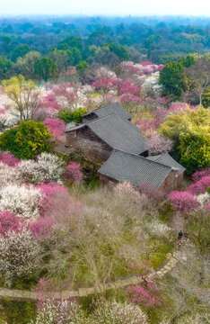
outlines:
[[[49,151],[51,134],[40,121],[21,121],[16,129],[5,130],[0,135],[0,148],[21,159],[33,158]]]

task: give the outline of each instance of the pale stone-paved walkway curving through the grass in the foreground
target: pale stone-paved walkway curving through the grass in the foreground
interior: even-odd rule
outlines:
[[[40,296],[39,293],[21,291],[21,290],[12,290],[5,289],[0,287],[0,299],[10,299],[14,301],[44,301],[46,298],[53,297],[56,299],[69,299],[71,297],[84,297],[94,293],[103,293],[110,289],[118,289],[127,287],[129,285],[141,284],[144,281],[147,281],[151,278],[162,278],[166,275],[171,269],[176,266],[179,262],[180,252],[175,251],[173,254],[169,253],[167,256],[167,262],[162,268],[157,271],[153,271],[148,275],[135,275],[133,277],[127,279],[118,279],[115,282],[111,282],[108,284],[101,284],[98,287],[92,288],[79,288],[76,291],[62,291],[56,293],[46,293]]]

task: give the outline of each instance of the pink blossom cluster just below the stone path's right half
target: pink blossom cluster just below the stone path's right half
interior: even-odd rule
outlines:
[[[157,286],[153,281],[143,285],[133,285],[127,289],[130,300],[138,305],[153,308],[162,304],[162,297],[158,296]]]

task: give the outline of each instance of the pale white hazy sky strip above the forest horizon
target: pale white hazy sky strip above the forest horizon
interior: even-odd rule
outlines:
[[[0,0],[2,14],[185,14],[210,16],[209,0]]]

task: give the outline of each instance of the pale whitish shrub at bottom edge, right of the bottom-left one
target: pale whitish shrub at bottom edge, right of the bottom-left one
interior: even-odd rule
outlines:
[[[136,305],[117,301],[98,302],[92,313],[92,324],[146,324],[147,316]]]

